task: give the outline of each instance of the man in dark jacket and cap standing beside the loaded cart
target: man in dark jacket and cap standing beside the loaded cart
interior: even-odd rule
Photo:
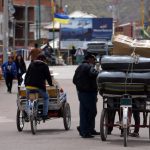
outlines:
[[[80,126],[77,127],[83,138],[92,138],[100,134],[95,131],[97,114],[97,84],[98,71],[95,70],[95,56],[88,54],[85,61],[78,66],[73,77],[80,102]]]

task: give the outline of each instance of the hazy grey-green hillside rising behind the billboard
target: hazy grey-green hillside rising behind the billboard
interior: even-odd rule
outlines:
[[[141,0],[118,0],[112,13],[113,0],[62,0],[63,6],[68,5],[68,11],[81,10],[98,17],[116,16],[120,23],[141,20]],[[145,0],[145,20],[148,20],[150,0]]]

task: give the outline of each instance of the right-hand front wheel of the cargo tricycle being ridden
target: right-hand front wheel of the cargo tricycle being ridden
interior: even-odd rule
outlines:
[[[63,122],[65,130],[69,130],[71,127],[71,110],[70,105],[65,102],[64,109],[63,109]]]

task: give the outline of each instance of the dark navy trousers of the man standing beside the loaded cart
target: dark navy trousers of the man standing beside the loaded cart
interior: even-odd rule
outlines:
[[[95,130],[95,117],[97,114],[97,92],[79,92],[80,101],[80,130],[82,135]]]

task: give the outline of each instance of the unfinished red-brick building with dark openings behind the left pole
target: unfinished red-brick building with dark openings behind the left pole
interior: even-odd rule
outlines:
[[[12,49],[33,46],[36,40],[48,38],[48,31],[43,26],[52,20],[51,0],[8,0],[15,13],[8,18],[9,47]],[[0,52],[3,45],[4,0],[0,0]],[[26,44],[25,44],[26,43]]]

